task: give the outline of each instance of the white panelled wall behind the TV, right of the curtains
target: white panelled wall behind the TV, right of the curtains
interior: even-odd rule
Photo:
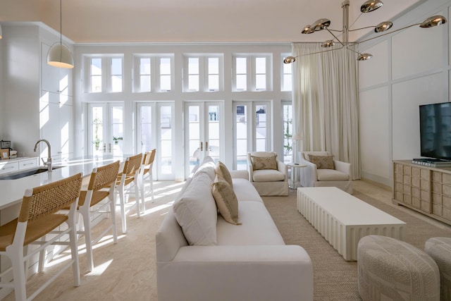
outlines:
[[[449,0],[425,1],[392,30],[433,15],[450,20],[450,8]],[[362,178],[391,186],[392,160],[421,157],[419,105],[450,101],[449,26],[414,26],[359,45],[373,54],[359,63]]]

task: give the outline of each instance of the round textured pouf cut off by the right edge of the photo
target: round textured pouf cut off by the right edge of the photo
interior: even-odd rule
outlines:
[[[429,238],[424,250],[440,271],[440,300],[451,300],[451,238]]]

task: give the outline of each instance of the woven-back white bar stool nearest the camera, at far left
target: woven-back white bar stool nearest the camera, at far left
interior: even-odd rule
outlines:
[[[10,269],[6,269],[0,274],[2,281],[0,287],[14,288],[16,301],[32,300],[69,266],[72,266],[73,269],[74,285],[80,285],[75,210],[77,209],[81,185],[81,173],[78,173],[75,176],[42,185],[32,190],[27,189],[18,219],[0,227],[0,254],[9,257],[12,264]],[[68,205],[70,205],[68,214],[58,212]],[[57,231],[63,223],[67,223],[68,228],[64,231]],[[45,240],[49,233],[52,234],[51,239]],[[63,235],[69,235],[69,240],[60,240]],[[66,239],[66,236],[62,239]],[[32,252],[27,252],[30,249],[28,245],[39,245],[39,247]],[[45,248],[49,245],[70,245],[71,260],[66,262],[58,273],[27,296],[28,261],[37,252],[43,254]],[[42,264],[39,264],[39,271],[42,271],[42,269]],[[11,281],[11,270],[13,271],[13,281]]]

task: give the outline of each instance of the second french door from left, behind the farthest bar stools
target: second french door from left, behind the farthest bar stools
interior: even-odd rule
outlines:
[[[156,149],[153,165],[154,180],[173,180],[175,178],[173,102],[139,102],[136,112],[136,149],[142,153]]]

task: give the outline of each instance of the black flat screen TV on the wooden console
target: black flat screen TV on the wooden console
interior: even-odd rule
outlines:
[[[421,156],[451,160],[451,102],[420,106]]]

